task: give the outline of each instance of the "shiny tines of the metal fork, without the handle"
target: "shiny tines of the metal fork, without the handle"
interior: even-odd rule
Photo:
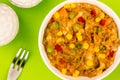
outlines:
[[[28,54],[29,54],[29,51],[22,50],[22,48],[20,48],[15,58],[13,59],[13,62],[12,62],[14,64],[13,68],[16,65],[18,66],[18,69],[23,68],[28,58]]]

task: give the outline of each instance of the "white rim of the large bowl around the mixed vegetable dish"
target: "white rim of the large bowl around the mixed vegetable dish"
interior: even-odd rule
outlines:
[[[118,48],[118,51],[116,52],[114,63],[101,75],[93,77],[93,78],[88,78],[88,77],[84,77],[84,76],[80,76],[78,78],[73,78],[73,77],[70,77],[67,75],[63,75],[54,66],[52,66],[50,64],[50,61],[47,58],[47,55],[46,55],[46,52],[44,49],[44,45],[42,44],[44,30],[46,29],[46,26],[47,26],[48,22],[50,21],[52,15],[56,11],[58,11],[61,7],[63,7],[66,3],[71,3],[71,2],[73,2],[73,3],[85,2],[85,3],[90,3],[93,5],[96,5],[99,8],[101,8],[105,13],[107,13],[109,16],[111,16],[114,19],[114,21],[118,27],[119,38],[120,38],[120,20],[119,20],[118,16],[115,14],[115,12],[112,9],[110,9],[108,6],[106,6],[105,4],[103,4],[97,0],[67,0],[67,1],[64,1],[61,4],[59,4],[58,6],[56,6],[54,9],[52,9],[49,12],[49,14],[45,17],[45,19],[41,25],[41,28],[40,28],[39,39],[38,39],[40,54],[42,56],[43,61],[47,65],[47,67],[61,79],[64,79],[64,80],[100,80],[100,79],[106,77],[107,75],[109,75],[119,64],[119,62],[120,62],[120,47]]]

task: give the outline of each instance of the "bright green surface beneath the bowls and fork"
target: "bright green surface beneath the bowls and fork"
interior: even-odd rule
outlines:
[[[19,17],[19,33],[8,45],[0,47],[0,80],[7,80],[9,66],[19,48],[30,51],[28,61],[17,80],[61,80],[44,64],[38,49],[40,25],[48,12],[64,0],[43,0],[30,9],[15,7],[8,0],[0,0],[11,6]],[[119,0],[100,0],[111,7],[120,16]],[[103,80],[119,80],[120,65]]]

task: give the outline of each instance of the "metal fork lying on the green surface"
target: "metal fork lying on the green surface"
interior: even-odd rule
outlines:
[[[16,80],[18,78],[26,63],[28,54],[29,51],[22,50],[22,48],[19,49],[10,66],[7,80]]]

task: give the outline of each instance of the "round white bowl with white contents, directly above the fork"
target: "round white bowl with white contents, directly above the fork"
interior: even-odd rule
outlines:
[[[0,3],[0,46],[11,42],[19,29],[19,21],[14,10]]]

